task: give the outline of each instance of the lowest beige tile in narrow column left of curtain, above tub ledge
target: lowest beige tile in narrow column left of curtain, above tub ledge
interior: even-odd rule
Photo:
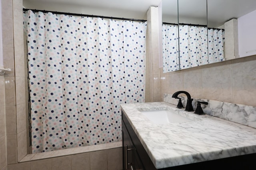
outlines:
[[[26,129],[18,133],[18,161],[22,160],[27,154],[27,134]]]

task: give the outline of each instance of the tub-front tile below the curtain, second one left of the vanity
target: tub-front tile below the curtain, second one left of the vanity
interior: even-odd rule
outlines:
[[[90,152],[90,170],[108,170],[106,150]]]

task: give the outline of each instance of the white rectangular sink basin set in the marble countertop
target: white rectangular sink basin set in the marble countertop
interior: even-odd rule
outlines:
[[[182,115],[178,115],[170,110],[147,110],[140,111],[145,115],[150,121],[155,124],[167,124],[167,123],[180,123],[186,121],[194,121]]]

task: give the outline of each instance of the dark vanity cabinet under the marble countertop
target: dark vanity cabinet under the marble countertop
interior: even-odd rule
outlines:
[[[140,143],[132,126],[122,111],[122,147],[123,147],[123,169],[124,170],[157,170],[148,156],[146,150]],[[188,170],[196,168],[197,170],[255,170],[256,154],[247,154],[210,160],[181,166],[162,168],[159,170]]]

